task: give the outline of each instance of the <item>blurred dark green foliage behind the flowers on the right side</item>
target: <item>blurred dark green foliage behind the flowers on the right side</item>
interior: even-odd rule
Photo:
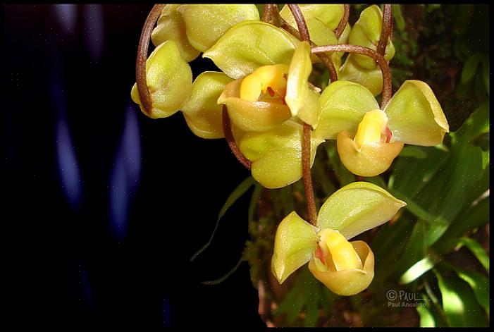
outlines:
[[[364,8],[352,5],[351,24]],[[489,325],[488,15],[488,5],[393,5],[393,88],[411,78],[431,85],[451,133],[437,147],[405,147],[390,170],[373,178],[347,171],[333,141],[319,147],[312,168],[318,209],[354,180],[380,185],[407,207],[357,237],[371,243],[376,257],[376,277],[368,290],[340,297],[307,268],[300,269],[285,282],[283,300],[274,294],[280,290],[266,295],[278,324]],[[327,80],[323,67],[314,69],[321,82]],[[252,194],[251,239],[243,259],[251,266],[255,287],[259,280],[269,284],[276,226],[293,210],[307,219],[302,181],[280,190],[257,186]],[[408,305],[390,301],[390,290],[413,299],[406,299]]]

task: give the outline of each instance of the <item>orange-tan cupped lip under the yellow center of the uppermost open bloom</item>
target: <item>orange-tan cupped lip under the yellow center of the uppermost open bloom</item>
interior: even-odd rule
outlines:
[[[247,102],[240,98],[242,79],[226,85],[218,98],[218,104],[225,104],[230,120],[244,131],[266,131],[292,117],[288,106],[281,99],[273,102]]]

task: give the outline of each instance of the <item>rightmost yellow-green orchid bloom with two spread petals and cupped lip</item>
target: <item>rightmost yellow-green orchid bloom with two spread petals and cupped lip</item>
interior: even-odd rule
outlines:
[[[449,125],[425,82],[407,80],[385,109],[362,85],[333,82],[321,94],[321,116],[314,137],[337,140],[342,164],[358,176],[386,171],[404,144],[443,142]]]

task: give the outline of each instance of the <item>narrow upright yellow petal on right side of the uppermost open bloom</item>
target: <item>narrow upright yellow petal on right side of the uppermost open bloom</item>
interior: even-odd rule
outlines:
[[[302,121],[316,128],[319,120],[319,94],[309,88],[309,75],[312,72],[311,47],[301,42],[293,54],[288,70],[285,102]]]

